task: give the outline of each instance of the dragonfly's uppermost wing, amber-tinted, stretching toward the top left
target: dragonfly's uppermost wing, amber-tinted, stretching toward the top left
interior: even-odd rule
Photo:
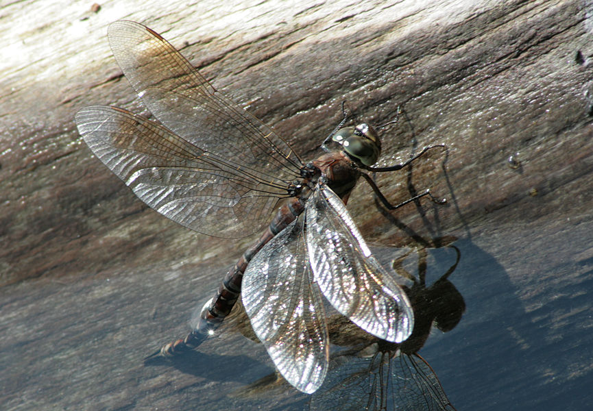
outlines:
[[[167,40],[132,21],[109,26],[113,54],[158,121],[189,142],[280,179],[301,166],[291,147],[217,92]]]

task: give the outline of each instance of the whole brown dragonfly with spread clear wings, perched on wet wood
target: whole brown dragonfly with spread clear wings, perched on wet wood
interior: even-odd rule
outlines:
[[[381,149],[376,130],[365,123],[342,127],[345,116],[324,140],[324,152],[304,162],[160,34],[116,21],[108,39],[158,122],[112,106],[83,108],[75,121],[88,147],[149,207],[189,229],[221,238],[263,230],[206,301],[195,328],[148,358],[198,347],[239,296],[278,371],[304,393],[315,392],[328,369],[322,295],[366,332],[394,343],[408,338],[409,299],[372,256],[345,203],[359,177],[390,210],[425,195],[444,203],[426,190],[392,206],[368,174],[402,169],[444,146],[374,167]]]

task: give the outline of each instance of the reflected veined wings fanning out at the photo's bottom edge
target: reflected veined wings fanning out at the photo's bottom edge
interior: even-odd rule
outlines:
[[[311,411],[455,411],[431,366],[417,354],[337,356]]]

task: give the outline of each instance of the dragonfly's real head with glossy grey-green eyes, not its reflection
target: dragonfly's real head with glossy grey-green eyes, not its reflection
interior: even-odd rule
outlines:
[[[381,140],[377,132],[365,123],[339,129],[332,140],[339,143],[350,157],[365,166],[375,164],[381,154]]]

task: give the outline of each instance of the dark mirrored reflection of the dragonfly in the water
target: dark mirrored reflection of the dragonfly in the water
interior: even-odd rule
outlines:
[[[350,348],[330,360],[330,373],[322,387],[311,396],[309,411],[317,410],[409,410],[455,411],[432,367],[418,351],[424,346],[431,328],[449,332],[465,312],[463,296],[448,277],[455,271],[461,253],[448,271],[426,286],[426,249],[418,251],[419,275],[414,277],[399,258],[394,269],[411,279],[404,290],[414,310],[414,329],[402,343],[390,343],[361,332],[343,316],[332,316],[332,342]],[[404,256],[405,257],[405,256]]]

